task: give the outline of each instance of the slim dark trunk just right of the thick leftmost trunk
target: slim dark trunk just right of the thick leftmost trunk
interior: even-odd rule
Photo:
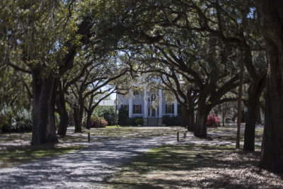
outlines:
[[[60,115],[60,123],[59,123],[57,134],[61,136],[65,136],[67,133],[67,127],[69,125],[69,115],[66,109],[64,91],[62,90],[59,91],[59,94],[57,96],[56,106],[57,106],[58,113]]]

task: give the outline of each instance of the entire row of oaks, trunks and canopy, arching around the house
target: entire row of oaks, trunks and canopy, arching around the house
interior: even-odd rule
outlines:
[[[282,6],[275,0],[5,1],[2,112],[32,107],[31,144],[57,142],[57,134],[67,131],[67,108],[80,132],[84,110],[89,126],[99,101],[146,74],[174,94],[182,125],[206,137],[211,110],[236,101],[243,63],[243,149],[255,150],[255,110],[267,84],[260,165],[283,170]]]

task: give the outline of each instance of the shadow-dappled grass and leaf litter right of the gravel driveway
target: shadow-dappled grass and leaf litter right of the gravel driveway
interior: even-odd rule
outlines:
[[[258,156],[259,152],[246,153],[230,147],[158,147],[138,156],[106,183],[110,188],[280,188],[280,176],[261,175],[256,167]],[[259,178],[275,178],[277,183]]]

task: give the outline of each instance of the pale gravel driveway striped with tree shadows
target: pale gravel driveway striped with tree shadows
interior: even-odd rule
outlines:
[[[176,143],[173,136],[91,142],[86,149],[0,169],[0,188],[100,188],[137,154]]]

